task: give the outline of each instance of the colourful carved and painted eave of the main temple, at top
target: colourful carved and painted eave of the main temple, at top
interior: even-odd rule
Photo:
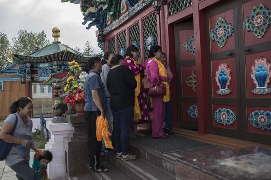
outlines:
[[[72,0],[62,0],[62,2]],[[81,11],[84,18],[82,24],[88,23],[86,29],[96,26],[98,46],[102,49],[104,35],[117,28],[143,8],[150,5],[152,0],[80,0]]]

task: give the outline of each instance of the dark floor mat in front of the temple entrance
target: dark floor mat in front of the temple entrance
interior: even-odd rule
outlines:
[[[146,134],[142,138],[130,139],[130,143],[160,154],[216,146],[178,135],[170,135],[167,139],[157,139],[152,138],[151,134]]]

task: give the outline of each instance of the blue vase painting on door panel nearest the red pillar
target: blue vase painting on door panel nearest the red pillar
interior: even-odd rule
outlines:
[[[231,69],[225,63],[220,64],[216,70],[215,76],[216,84],[219,87],[219,90],[217,90],[216,93],[220,95],[227,95],[231,93],[232,91],[228,89],[231,79]]]

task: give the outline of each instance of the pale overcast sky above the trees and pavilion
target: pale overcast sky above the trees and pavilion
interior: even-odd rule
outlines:
[[[96,53],[101,52],[96,42],[96,26],[86,29],[79,4],[61,3],[61,0],[0,0],[0,32],[7,34],[10,43],[19,29],[45,31],[53,41],[52,28],[60,29],[60,41],[69,47],[83,49],[90,40]]]

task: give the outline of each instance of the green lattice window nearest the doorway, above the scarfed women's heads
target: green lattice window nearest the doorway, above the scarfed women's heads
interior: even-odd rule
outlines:
[[[145,60],[148,58],[149,50],[146,45],[147,38],[149,36],[153,36],[154,44],[158,43],[158,33],[157,33],[157,20],[156,14],[152,14],[146,19],[143,20],[143,32],[144,32],[144,53],[145,53]]]

